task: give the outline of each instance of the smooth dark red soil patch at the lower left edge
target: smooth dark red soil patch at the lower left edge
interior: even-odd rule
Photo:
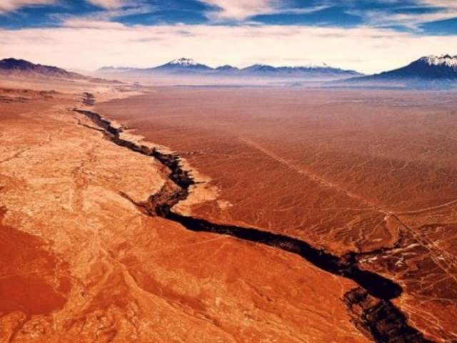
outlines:
[[[5,213],[0,209],[0,315],[20,311],[31,317],[61,309],[70,289],[64,266],[39,237],[3,224]]]

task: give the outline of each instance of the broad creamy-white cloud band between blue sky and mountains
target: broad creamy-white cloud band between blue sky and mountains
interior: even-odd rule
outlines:
[[[0,36],[0,58],[14,56],[86,70],[105,65],[155,66],[189,56],[211,66],[325,62],[371,73],[403,66],[428,54],[457,54],[457,36],[415,36],[368,27],[129,27],[74,20],[61,28],[0,29]]]

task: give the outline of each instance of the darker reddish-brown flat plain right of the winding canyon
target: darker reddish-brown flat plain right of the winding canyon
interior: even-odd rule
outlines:
[[[356,252],[363,268],[401,284],[394,303],[413,327],[428,339],[453,342],[455,99],[426,92],[161,88],[97,110],[205,175],[204,187],[217,196],[183,204],[182,213],[287,234],[338,256]],[[316,287],[305,277],[303,284]]]

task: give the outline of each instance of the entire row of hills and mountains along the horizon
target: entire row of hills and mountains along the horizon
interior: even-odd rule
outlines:
[[[149,78],[159,76],[185,76],[233,78],[233,79],[321,79],[339,86],[402,86],[411,88],[453,88],[457,86],[457,56],[424,56],[398,69],[380,74],[363,75],[353,70],[338,69],[326,64],[320,66],[269,66],[253,64],[243,69],[224,65],[212,68],[199,64],[193,59],[174,59],[169,63],[151,68],[104,67],[96,71],[99,76],[130,76]],[[56,66],[34,64],[24,59],[0,60],[0,76],[21,76],[27,78],[51,78],[107,82],[99,77],[85,76]],[[216,80],[216,78],[215,78]],[[109,81],[116,82],[119,81]]]

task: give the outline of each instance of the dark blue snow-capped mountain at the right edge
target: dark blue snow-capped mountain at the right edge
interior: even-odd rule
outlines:
[[[401,68],[348,79],[346,82],[398,84],[414,88],[457,86],[457,56],[424,56]]]

